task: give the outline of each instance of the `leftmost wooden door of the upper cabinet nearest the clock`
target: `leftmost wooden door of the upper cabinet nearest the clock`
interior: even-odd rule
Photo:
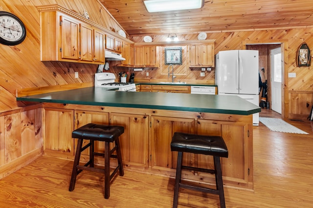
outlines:
[[[60,16],[61,19],[61,58],[79,60],[79,22]]]

